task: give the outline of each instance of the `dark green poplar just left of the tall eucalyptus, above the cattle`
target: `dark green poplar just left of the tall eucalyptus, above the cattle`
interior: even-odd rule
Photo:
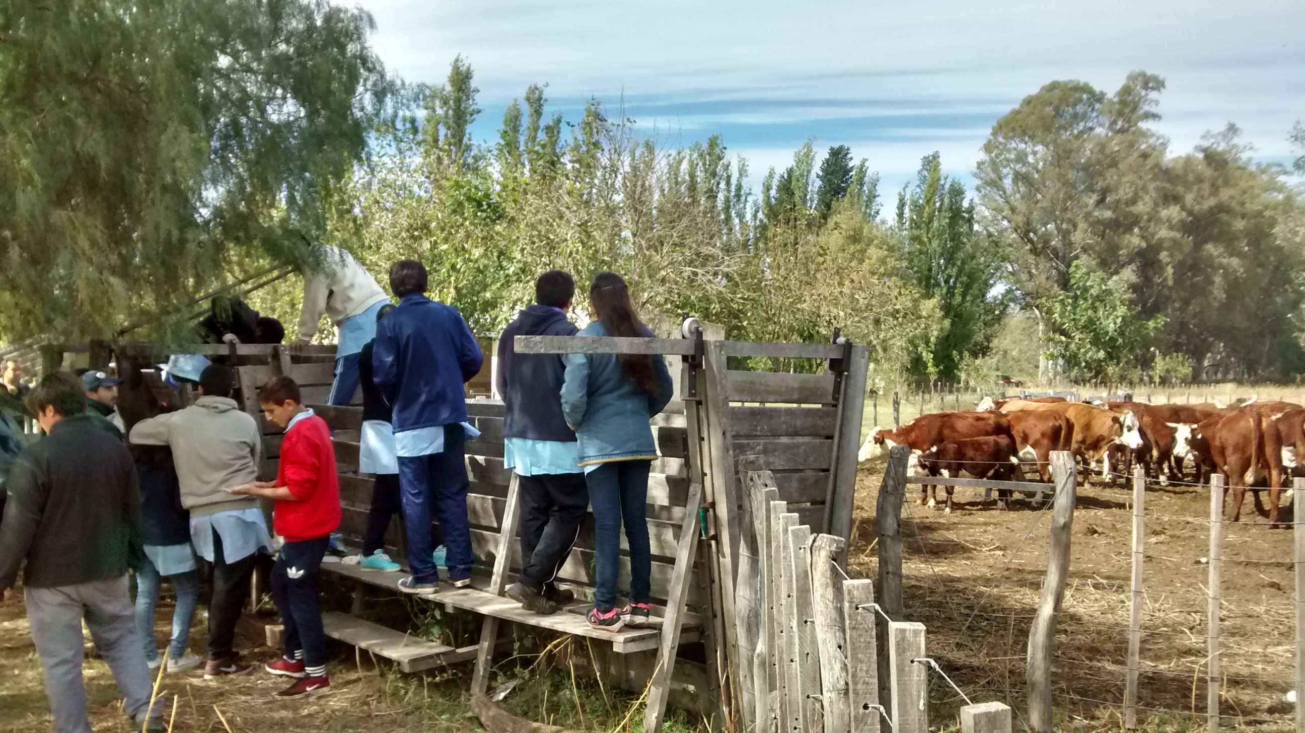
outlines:
[[[944,325],[915,363],[917,374],[958,377],[966,357],[987,353],[1006,310],[997,295],[1000,253],[975,232],[964,184],[942,175],[938,153],[920,160],[915,190],[898,198],[897,232],[907,280],[937,301]]]

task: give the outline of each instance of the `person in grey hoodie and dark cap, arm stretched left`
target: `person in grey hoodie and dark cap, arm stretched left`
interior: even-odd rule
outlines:
[[[200,373],[200,399],[194,404],[141,420],[130,434],[134,445],[172,449],[181,506],[191,513],[191,543],[196,554],[213,563],[205,680],[252,669],[240,661],[232,644],[249,597],[256,557],[271,552],[258,502],[224,490],[258,477],[262,447],[258,424],[231,399],[234,391],[235,372],[210,364]]]

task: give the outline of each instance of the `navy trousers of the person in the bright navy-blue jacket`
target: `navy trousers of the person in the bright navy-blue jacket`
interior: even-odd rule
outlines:
[[[471,576],[475,553],[467,523],[467,463],[462,425],[444,426],[444,453],[399,456],[399,490],[403,527],[408,539],[408,566],[418,583],[435,583],[435,537],[431,527],[438,519],[448,548],[449,580]]]

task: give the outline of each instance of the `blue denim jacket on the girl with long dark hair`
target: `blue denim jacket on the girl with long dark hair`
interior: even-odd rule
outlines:
[[[606,337],[599,322],[576,334]],[[651,331],[645,335],[652,337]],[[645,394],[612,353],[570,353],[562,382],[562,415],[576,430],[581,466],[656,458],[649,419],[671,402],[673,385],[666,360],[652,357],[656,394]]]

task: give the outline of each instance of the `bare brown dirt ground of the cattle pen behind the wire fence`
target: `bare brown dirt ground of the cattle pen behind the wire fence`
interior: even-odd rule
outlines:
[[[877,573],[874,503],[883,462],[863,467],[852,570]],[[1001,700],[1019,716],[1028,627],[1047,571],[1049,510],[1026,498],[1000,511],[981,490],[957,489],[946,515],[903,506],[906,620],[928,626],[929,656],[974,702]],[[942,496],[940,489],[940,497]],[[1150,485],[1146,496],[1139,712],[1143,729],[1205,729],[1210,494]],[[1289,511],[1287,513],[1289,518]],[[1292,729],[1295,676],[1292,532],[1268,530],[1248,494],[1241,524],[1224,524],[1223,725]],[[1289,519],[1288,519],[1289,520]],[[1064,613],[1056,636],[1057,728],[1122,728],[1131,575],[1131,484],[1079,486]],[[1199,674],[1199,677],[1197,677]],[[959,695],[932,676],[930,719],[955,725]]]

